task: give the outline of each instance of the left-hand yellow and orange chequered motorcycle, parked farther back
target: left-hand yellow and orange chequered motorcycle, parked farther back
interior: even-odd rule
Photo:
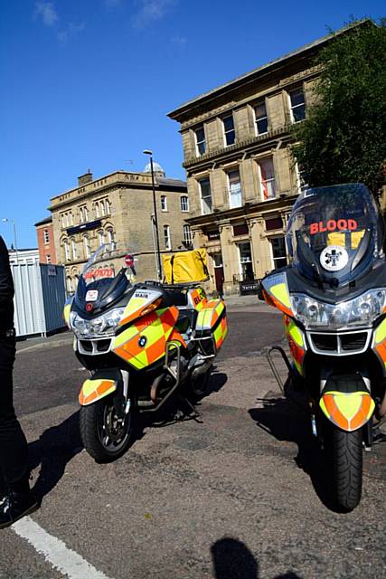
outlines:
[[[81,441],[98,462],[127,451],[136,415],[158,411],[172,394],[194,410],[190,394],[203,394],[228,331],[224,302],[207,299],[198,284],[136,276],[133,254],[102,245],[64,307],[89,371],[79,395]]]

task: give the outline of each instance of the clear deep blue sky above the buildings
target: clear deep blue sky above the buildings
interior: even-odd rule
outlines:
[[[380,0],[0,0],[1,212],[19,247],[50,198],[117,169],[142,170],[144,148],[184,178],[166,113],[303,44]],[[12,227],[0,221],[5,242]]]

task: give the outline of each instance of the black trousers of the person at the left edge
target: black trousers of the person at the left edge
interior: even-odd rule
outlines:
[[[14,414],[14,337],[0,337],[0,490],[28,477],[28,447]]]

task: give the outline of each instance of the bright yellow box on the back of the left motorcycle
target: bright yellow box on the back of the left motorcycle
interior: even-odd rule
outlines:
[[[190,283],[209,277],[205,249],[163,255],[162,261],[166,283]]]

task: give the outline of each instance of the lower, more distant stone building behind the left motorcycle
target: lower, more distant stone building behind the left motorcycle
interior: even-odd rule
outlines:
[[[189,198],[184,181],[165,176],[154,164],[156,211],[161,252],[191,244]],[[153,190],[150,166],[141,173],[116,171],[99,179],[80,176],[78,186],[52,198],[52,227],[57,262],[65,265],[67,288],[92,252],[117,242],[122,255],[136,254],[138,280],[156,279]]]

